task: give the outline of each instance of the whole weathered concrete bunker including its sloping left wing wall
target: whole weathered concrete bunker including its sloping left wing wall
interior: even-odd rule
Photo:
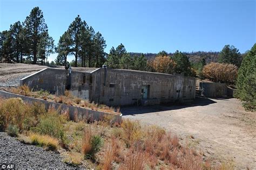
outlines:
[[[57,95],[70,90],[73,96],[109,106],[185,103],[196,97],[196,79],[107,67],[85,71],[46,68],[21,79],[21,85]]]

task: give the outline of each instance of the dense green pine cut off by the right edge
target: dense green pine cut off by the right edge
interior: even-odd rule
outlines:
[[[256,111],[256,44],[244,57],[238,70],[235,97],[243,101],[247,110]]]

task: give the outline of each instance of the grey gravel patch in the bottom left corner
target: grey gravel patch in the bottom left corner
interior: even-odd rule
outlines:
[[[22,144],[16,138],[0,132],[0,168],[7,165],[14,165],[15,169],[72,168],[64,164],[58,153]]]

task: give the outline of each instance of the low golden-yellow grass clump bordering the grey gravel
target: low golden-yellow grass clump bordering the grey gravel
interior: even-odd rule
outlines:
[[[51,151],[56,151],[59,145],[58,139],[52,138],[49,135],[30,134],[29,138],[32,145],[44,146]]]

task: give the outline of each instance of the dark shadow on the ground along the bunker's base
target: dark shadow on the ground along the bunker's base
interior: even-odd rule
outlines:
[[[205,97],[196,97],[196,99],[190,104],[165,104],[165,105],[154,105],[154,106],[127,106],[121,107],[121,113],[123,115],[134,115],[134,114],[143,114],[151,112],[162,112],[169,110],[178,110],[186,107],[195,107],[195,106],[206,106],[210,104],[217,103],[211,99]]]

